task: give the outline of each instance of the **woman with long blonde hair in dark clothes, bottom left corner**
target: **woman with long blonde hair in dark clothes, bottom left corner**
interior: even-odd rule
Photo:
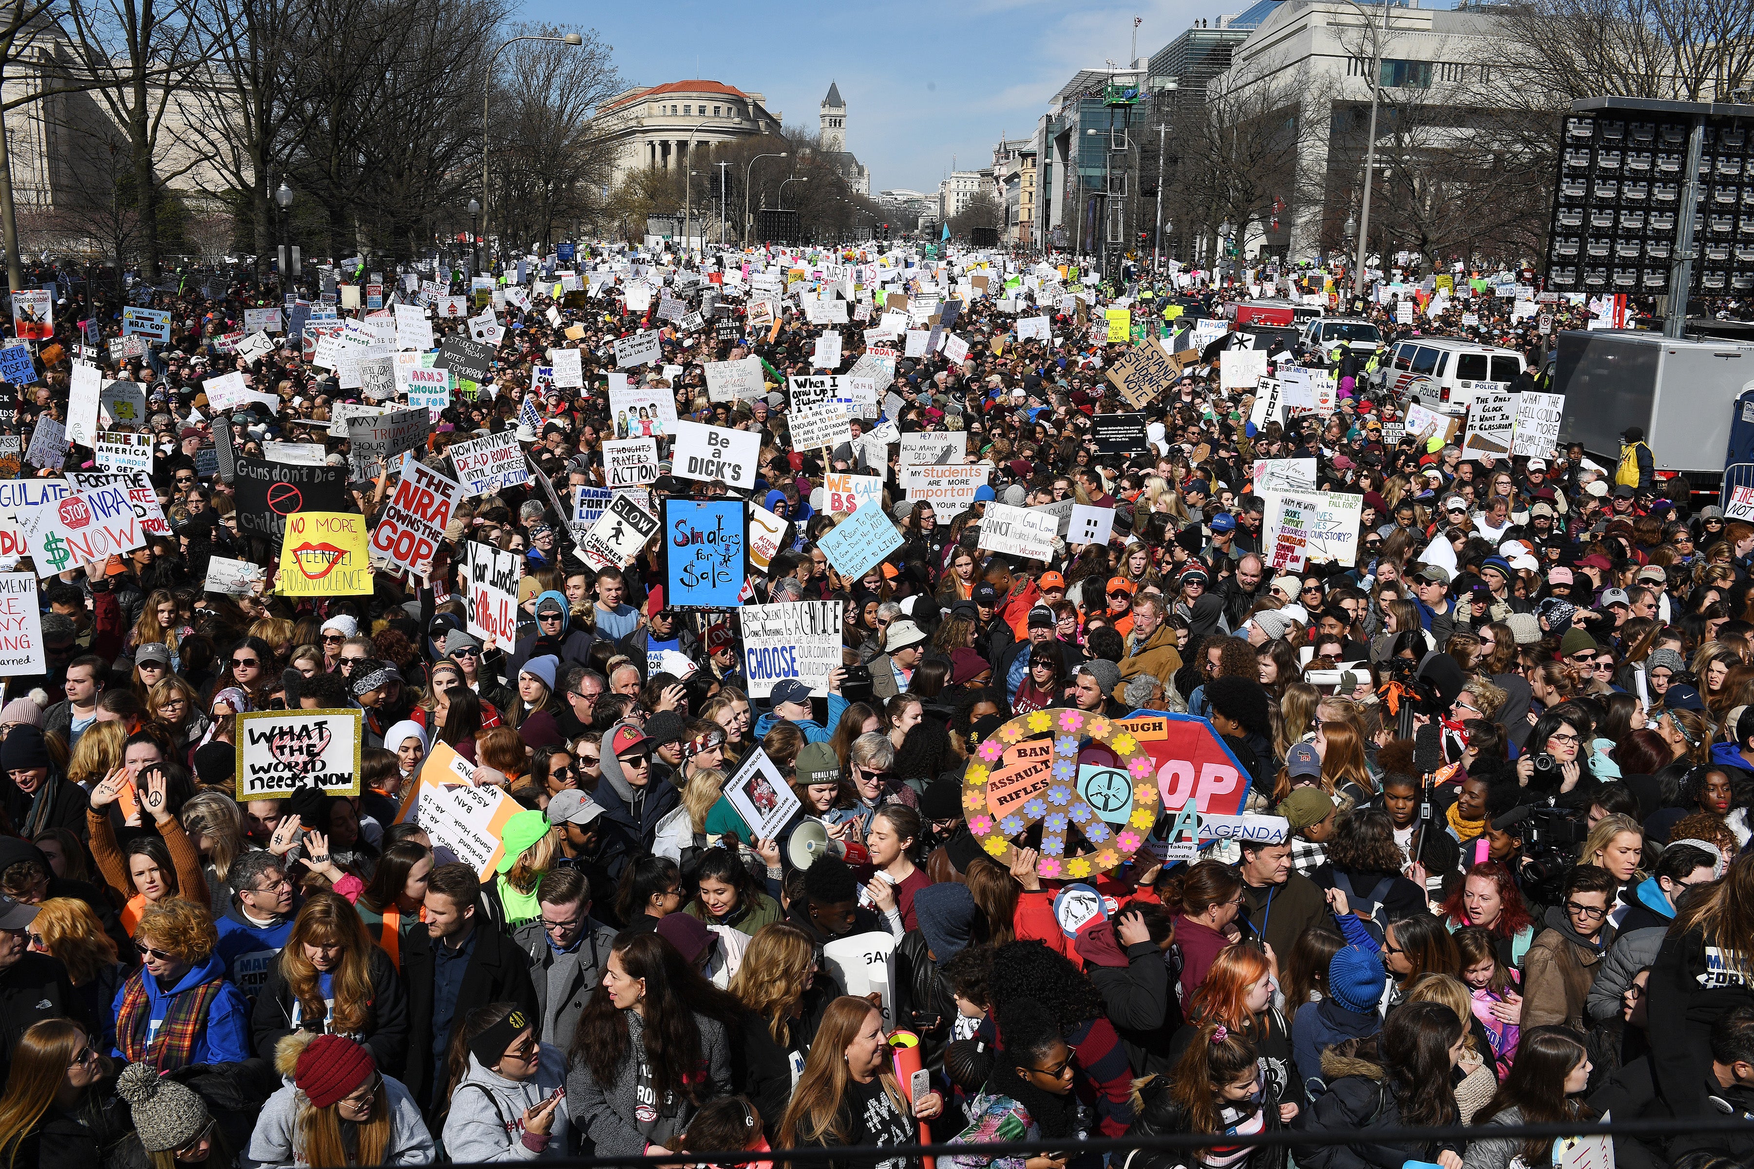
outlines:
[[[32,1024],[12,1048],[0,1095],[0,1165],[103,1164],[130,1130],[128,1109],[105,1090],[112,1074],[79,1024]]]

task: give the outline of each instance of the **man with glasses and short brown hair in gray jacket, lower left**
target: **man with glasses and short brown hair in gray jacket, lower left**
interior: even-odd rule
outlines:
[[[561,822],[575,811],[579,797],[565,790],[549,803],[549,818]],[[530,981],[537,988],[542,1043],[572,1050],[584,1004],[603,980],[616,931],[591,917],[591,882],[579,869],[554,869],[537,885],[542,917],[512,931],[512,939],[530,955]]]

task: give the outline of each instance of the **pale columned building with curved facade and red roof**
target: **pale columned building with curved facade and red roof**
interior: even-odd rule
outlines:
[[[723,81],[670,81],[635,86],[603,102],[596,130],[616,144],[610,182],[645,166],[684,166],[689,149],[723,145],[737,138],[779,133],[782,117],[768,110],[759,93]]]

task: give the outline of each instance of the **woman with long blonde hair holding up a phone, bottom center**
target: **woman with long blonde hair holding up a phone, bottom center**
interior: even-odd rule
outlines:
[[[889,1066],[882,1015],[865,999],[828,1004],[779,1127],[779,1146],[916,1144],[917,1120],[944,1111],[931,1092],[909,1108]]]

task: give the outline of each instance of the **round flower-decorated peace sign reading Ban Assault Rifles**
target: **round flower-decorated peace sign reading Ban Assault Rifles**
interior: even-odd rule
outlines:
[[[1154,773],[1144,745],[1117,720],[1037,710],[975,748],[963,773],[963,810],[988,855],[1003,857],[1038,824],[1035,871],[1082,880],[1138,852],[1158,818]]]

